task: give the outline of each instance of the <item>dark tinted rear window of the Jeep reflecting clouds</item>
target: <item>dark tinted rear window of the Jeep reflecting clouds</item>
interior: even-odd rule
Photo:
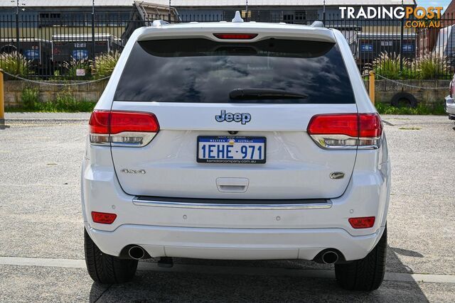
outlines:
[[[262,94],[269,90],[273,94]],[[238,96],[239,91],[249,94],[232,97]],[[274,38],[255,43],[219,43],[199,38],[137,42],[114,100],[355,103],[336,44]]]

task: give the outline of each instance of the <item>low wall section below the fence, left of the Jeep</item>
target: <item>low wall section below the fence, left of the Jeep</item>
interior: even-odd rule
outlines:
[[[70,92],[77,100],[97,101],[106,87],[107,80],[82,85],[66,85],[65,87],[33,84],[21,80],[10,80],[4,83],[5,106],[8,107],[21,104],[22,91],[26,87],[38,89],[40,101],[55,100],[58,94],[63,92]]]

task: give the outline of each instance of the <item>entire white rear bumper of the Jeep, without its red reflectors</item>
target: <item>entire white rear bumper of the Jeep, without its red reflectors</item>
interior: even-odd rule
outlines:
[[[154,257],[312,260],[321,250],[335,248],[346,260],[357,260],[378,243],[389,204],[387,153],[377,155],[378,162],[383,161],[379,165],[370,153],[358,152],[358,170],[341,197],[330,199],[322,208],[301,209],[137,204],[137,197],[120,187],[110,159],[92,153],[97,165],[88,159],[82,165],[85,228],[109,255],[120,255],[125,246],[135,244]],[[91,211],[115,213],[117,219],[113,224],[97,224]],[[360,216],[375,216],[374,226],[352,228],[348,218]]]

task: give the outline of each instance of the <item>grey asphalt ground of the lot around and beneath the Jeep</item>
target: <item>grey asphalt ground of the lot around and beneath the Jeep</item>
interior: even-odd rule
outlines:
[[[455,302],[455,124],[383,116],[392,161],[387,274],[346,292],[301,260],[141,262],[134,282],[87,275],[80,163],[88,114],[6,114],[0,125],[0,302]],[[3,128],[3,129],[2,129]]]

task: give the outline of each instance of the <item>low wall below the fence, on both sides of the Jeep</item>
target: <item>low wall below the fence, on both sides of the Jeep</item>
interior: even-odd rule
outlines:
[[[432,104],[441,101],[449,94],[450,80],[399,80],[406,84],[418,87],[444,87],[444,89],[414,89],[395,84],[388,80],[376,80],[376,101],[389,103],[397,92],[410,92],[417,101],[424,104]],[[17,106],[21,104],[21,94],[25,87],[36,87],[40,92],[41,101],[54,100],[58,93],[70,92],[78,100],[97,101],[105,89],[106,81],[94,82],[83,85],[54,86],[45,84],[31,84],[24,81],[5,81],[5,106]],[[365,80],[368,89],[368,80]]]

